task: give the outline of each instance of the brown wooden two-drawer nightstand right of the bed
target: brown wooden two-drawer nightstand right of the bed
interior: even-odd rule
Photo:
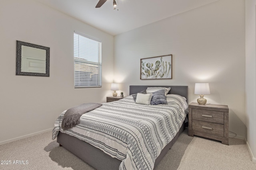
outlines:
[[[228,145],[228,106],[191,103],[188,108],[189,136],[206,137]]]

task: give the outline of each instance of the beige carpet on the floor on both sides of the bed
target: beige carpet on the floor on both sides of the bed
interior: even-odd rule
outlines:
[[[51,140],[51,132],[0,145],[0,170],[95,170]],[[18,164],[14,164],[18,160]],[[26,164],[26,161],[27,164]],[[0,162],[2,163],[2,162]],[[3,162],[4,163],[4,162]],[[156,170],[256,170],[244,141],[230,139],[230,145],[180,135]]]

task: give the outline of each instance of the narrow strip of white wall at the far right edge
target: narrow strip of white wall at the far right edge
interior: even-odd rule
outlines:
[[[246,0],[246,127],[247,144],[256,162],[256,0]]]

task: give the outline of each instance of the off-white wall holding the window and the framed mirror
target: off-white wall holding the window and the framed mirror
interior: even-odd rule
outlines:
[[[102,41],[102,88],[74,89],[74,30]],[[33,0],[1,0],[0,39],[0,143],[50,129],[65,109],[112,93],[112,35]],[[16,40],[50,47],[50,77],[15,75]]]

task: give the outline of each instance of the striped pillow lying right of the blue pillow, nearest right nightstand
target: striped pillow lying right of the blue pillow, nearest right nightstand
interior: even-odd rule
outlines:
[[[166,100],[168,104],[178,104],[182,109],[184,109],[185,113],[188,113],[188,103],[187,99],[178,94],[167,94]]]

